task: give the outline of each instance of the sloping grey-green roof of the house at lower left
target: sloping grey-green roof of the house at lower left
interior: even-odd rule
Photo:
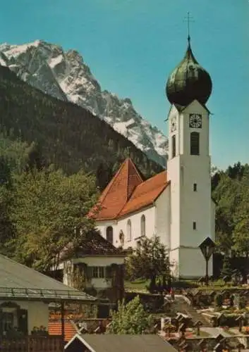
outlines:
[[[87,302],[97,299],[0,255],[0,300],[17,298],[34,301]]]

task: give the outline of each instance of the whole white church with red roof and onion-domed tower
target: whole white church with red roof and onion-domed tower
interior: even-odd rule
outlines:
[[[195,59],[188,36],[186,54],[166,82],[171,103],[166,171],[143,180],[126,159],[100,196],[95,215],[97,229],[114,246],[139,248],[143,236],[159,236],[178,278],[205,275],[199,246],[207,237],[214,240],[206,106],[211,92],[212,80]]]

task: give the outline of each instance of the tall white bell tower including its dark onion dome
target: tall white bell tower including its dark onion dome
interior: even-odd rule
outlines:
[[[204,276],[205,260],[199,246],[207,237],[214,239],[209,111],[205,105],[211,92],[211,77],[195,59],[188,36],[186,54],[166,83],[171,103],[167,163],[171,181],[170,260],[176,277]]]

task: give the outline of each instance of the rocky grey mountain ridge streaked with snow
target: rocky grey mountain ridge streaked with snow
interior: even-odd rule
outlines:
[[[91,111],[152,160],[165,165],[168,140],[164,134],[135,111],[130,99],[102,91],[77,51],[63,51],[61,46],[41,40],[23,45],[1,44],[0,64],[33,87]]]

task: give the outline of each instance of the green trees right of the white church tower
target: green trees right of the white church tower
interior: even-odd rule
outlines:
[[[212,178],[217,201],[216,236],[219,250],[249,256],[249,165],[236,163]]]

